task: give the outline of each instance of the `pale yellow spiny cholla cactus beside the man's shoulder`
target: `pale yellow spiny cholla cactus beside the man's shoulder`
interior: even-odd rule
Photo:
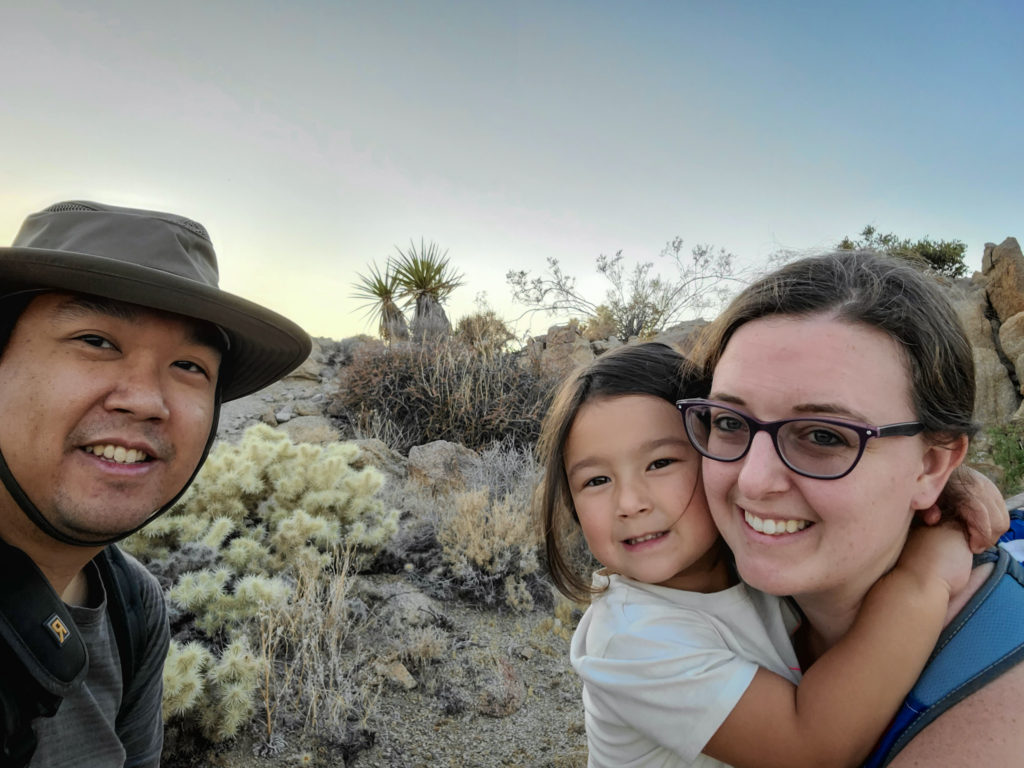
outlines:
[[[371,558],[397,530],[398,512],[377,498],[384,476],[358,459],[351,443],[295,444],[251,427],[211,452],[174,509],[126,540],[168,587],[176,639],[165,719],[198,723],[210,740],[233,736],[274,663],[247,640],[261,616],[292,598],[299,570],[342,575],[339,561]]]

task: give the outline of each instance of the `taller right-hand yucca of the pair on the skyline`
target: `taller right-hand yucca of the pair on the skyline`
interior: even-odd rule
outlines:
[[[413,306],[413,340],[423,343],[443,339],[452,333],[452,324],[441,306],[452,292],[463,284],[463,275],[449,264],[447,251],[430,242],[420,249],[413,241],[409,250],[395,246],[394,278],[401,287],[407,306]]]

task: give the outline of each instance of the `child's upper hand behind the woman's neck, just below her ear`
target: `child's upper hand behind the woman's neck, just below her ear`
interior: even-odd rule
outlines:
[[[981,472],[963,464],[950,475],[938,501],[918,515],[929,525],[958,519],[972,552],[984,552],[1010,527],[1010,513],[999,489]]]

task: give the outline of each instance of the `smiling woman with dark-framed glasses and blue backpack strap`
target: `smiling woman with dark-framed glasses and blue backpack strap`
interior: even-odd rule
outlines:
[[[750,286],[715,322],[705,352],[711,393],[679,408],[706,458],[709,506],[742,580],[793,596],[807,669],[850,631],[916,513],[963,461],[976,428],[971,348],[928,278],[837,254]],[[882,749],[869,764],[1013,765],[1024,755],[1024,728],[1006,710],[1024,685],[1015,666],[1024,628],[1009,618],[1024,610],[1024,588],[1005,553],[978,559],[937,648],[998,636],[999,660],[948,696],[943,679],[956,671],[946,668],[963,665],[934,662],[911,692],[921,700],[900,716],[911,728],[895,729],[889,756]],[[941,706],[914,720],[930,697]]]

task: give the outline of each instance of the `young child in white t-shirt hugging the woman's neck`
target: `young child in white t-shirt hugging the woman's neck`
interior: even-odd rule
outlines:
[[[545,421],[549,567],[568,597],[593,596],[570,653],[589,766],[858,765],[967,583],[964,532],[915,528],[854,628],[801,680],[798,616],[738,581],[709,514],[675,406],[706,386],[685,365],[663,344],[608,352],[562,386]],[[572,565],[573,527],[605,566],[593,587]],[[772,743],[749,736],[765,719]]]

